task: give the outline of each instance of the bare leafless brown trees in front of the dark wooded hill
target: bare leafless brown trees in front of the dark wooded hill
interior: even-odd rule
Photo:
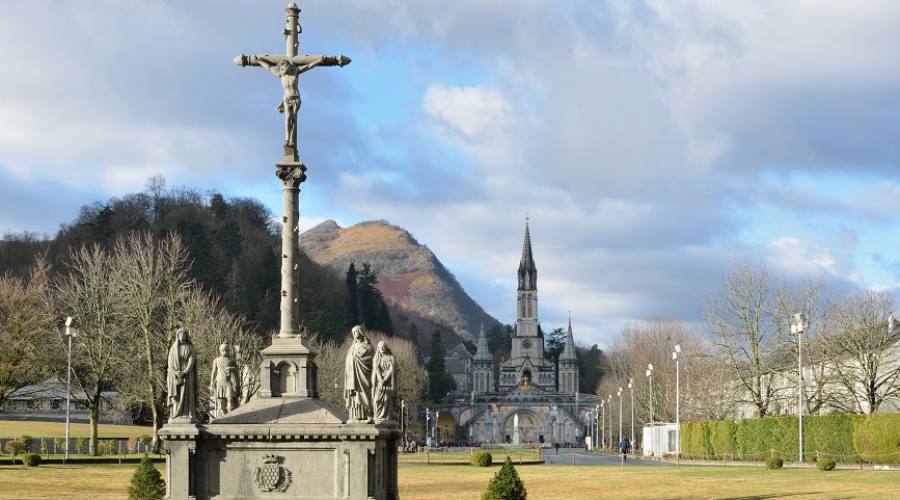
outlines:
[[[0,404],[47,378],[65,380],[69,337],[62,326],[73,319],[73,391],[84,394],[90,412],[90,449],[97,450],[101,402],[118,393],[118,404],[149,413],[154,430],[166,418],[166,367],[175,330],[186,327],[197,350],[197,370],[209,372],[219,344],[240,346],[239,367],[249,379],[243,397],[256,387],[262,337],[246,320],[190,277],[190,258],[181,238],[149,232],[120,236],[72,249],[60,271],[38,258],[26,277],[0,279]],[[6,349],[5,346],[12,346]],[[25,389],[27,390],[27,389]],[[208,399],[200,384],[199,400]],[[27,394],[26,394],[27,395]],[[158,449],[155,437],[153,446]]]

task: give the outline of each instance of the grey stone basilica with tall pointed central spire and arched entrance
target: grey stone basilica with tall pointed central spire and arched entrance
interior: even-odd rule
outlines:
[[[509,358],[494,363],[483,327],[474,356],[468,356],[464,348],[448,353],[447,367],[457,382],[457,396],[438,410],[439,436],[473,444],[552,445],[582,440],[588,410],[599,404],[599,398],[579,393],[571,320],[558,362],[545,356],[538,328],[537,276],[526,222]]]

